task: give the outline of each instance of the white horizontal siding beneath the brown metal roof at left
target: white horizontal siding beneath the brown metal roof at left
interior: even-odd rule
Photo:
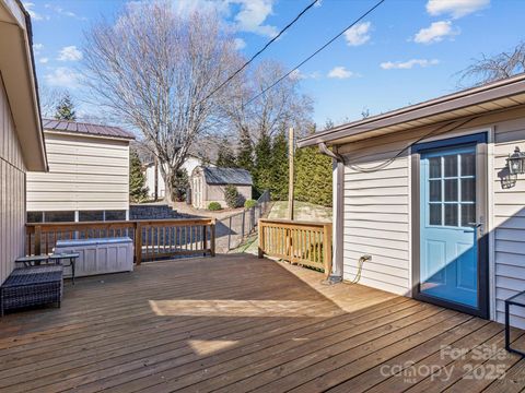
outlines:
[[[49,172],[27,174],[27,211],[128,210],[128,141],[45,135]]]

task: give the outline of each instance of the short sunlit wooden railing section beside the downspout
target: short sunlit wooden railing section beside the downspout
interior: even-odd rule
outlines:
[[[331,224],[259,219],[259,258],[277,257],[331,272]]]

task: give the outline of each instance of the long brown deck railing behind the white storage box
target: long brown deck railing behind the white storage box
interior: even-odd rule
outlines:
[[[28,255],[50,253],[57,240],[129,237],[135,262],[189,254],[215,254],[213,218],[26,224]]]

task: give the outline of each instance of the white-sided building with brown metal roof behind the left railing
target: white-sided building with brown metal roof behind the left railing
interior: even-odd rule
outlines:
[[[27,222],[126,219],[129,143],[118,128],[44,120],[49,172],[27,172]]]

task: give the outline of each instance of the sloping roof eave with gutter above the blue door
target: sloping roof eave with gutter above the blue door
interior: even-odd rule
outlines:
[[[525,104],[525,73],[316,132],[299,147],[341,144]]]

